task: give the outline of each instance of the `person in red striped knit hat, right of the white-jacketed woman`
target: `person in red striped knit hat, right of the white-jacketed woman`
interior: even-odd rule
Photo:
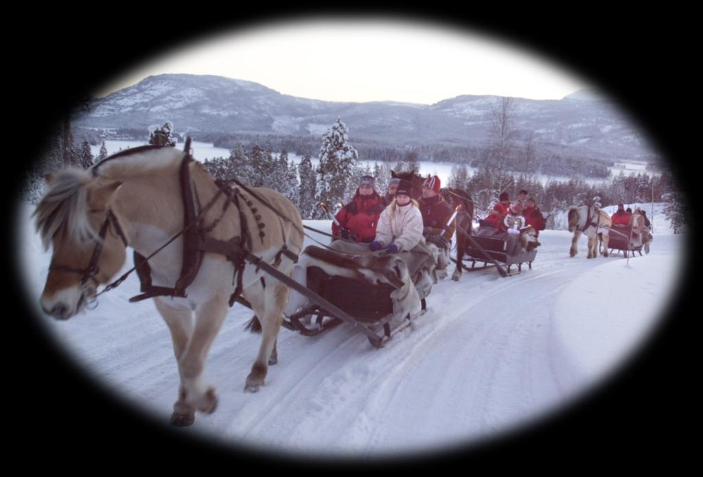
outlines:
[[[437,255],[437,277],[446,277],[449,265],[451,237],[454,235],[456,220],[449,218],[453,214],[451,205],[439,195],[439,177],[428,177],[423,183],[423,197],[420,199],[420,213],[423,215],[423,237],[427,246]]]

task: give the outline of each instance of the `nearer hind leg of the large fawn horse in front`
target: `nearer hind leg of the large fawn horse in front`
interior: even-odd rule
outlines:
[[[252,287],[261,287],[261,285],[257,285],[255,282]],[[249,292],[247,299],[249,299],[261,322],[262,343],[259,346],[257,359],[254,361],[252,370],[247,376],[244,390],[256,393],[264,385],[266,373],[269,371],[269,364],[273,364],[271,361],[278,362],[278,353],[274,355],[273,351],[276,348],[276,338],[283,320],[283,308],[285,308],[285,302],[288,301],[290,289],[278,281],[274,281],[263,289],[263,294],[251,293],[252,287],[246,291]]]

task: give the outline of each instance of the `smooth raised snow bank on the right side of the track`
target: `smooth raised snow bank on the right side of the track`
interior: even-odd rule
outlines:
[[[593,386],[654,331],[678,282],[678,255],[597,266],[565,286],[552,310],[550,351],[563,388]]]

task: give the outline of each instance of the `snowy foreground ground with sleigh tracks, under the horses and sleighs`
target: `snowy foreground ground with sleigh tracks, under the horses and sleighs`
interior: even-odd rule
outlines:
[[[37,303],[50,257],[32,207],[18,207],[20,261]],[[300,455],[375,457],[476,443],[536,422],[636,353],[682,266],[680,235],[654,233],[652,252],[629,260],[587,260],[585,238],[570,259],[570,237],[543,231],[532,270],[520,275],[487,269],[441,280],[427,313],[380,350],[348,325],[315,337],[281,329],[278,365],[257,394],[243,388],[259,336],[243,330],[251,313],[235,305],[207,361],[217,412],[177,432]],[[86,372],[167,426],[179,382],[171,339],[151,301],[127,302],[136,294],[132,275],[67,322],[37,315]]]

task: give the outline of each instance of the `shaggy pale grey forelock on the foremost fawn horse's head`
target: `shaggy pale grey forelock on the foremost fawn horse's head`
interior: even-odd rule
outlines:
[[[63,224],[79,244],[100,240],[88,221],[88,192],[86,184],[93,180],[89,171],[70,167],[60,171],[37,204],[32,217],[44,249]]]

